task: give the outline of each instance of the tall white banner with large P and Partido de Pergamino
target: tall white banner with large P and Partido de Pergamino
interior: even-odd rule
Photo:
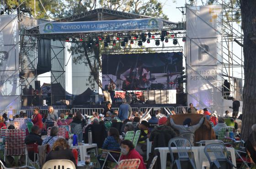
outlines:
[[[221,5],[187,7],[187,103],[222,106]]]

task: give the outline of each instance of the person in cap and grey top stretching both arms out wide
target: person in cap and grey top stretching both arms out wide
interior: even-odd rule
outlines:
[[[200,128],[200,126],[203,124],[205,118],[201,118],[199,123],[196,125],[191,125],[191,118],[186,118],[183,122],[183,125],[175,124],[173,119],[170,119],[171,127],[175,128],[179,131],[179,133],[186,133],[186,132],[192,132],[195,133],[195,131]]]

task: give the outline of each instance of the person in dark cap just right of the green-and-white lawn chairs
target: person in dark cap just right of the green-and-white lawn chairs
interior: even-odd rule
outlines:
[[[137,128],[135,128],[135,131],[140,130],[138,143],[136,146],[136,150],[139,152],[139,154],[146,158],[146,149],[147,149],[147,142],[145,140],[149,138],[149,123],[146,120],[143,120]]]

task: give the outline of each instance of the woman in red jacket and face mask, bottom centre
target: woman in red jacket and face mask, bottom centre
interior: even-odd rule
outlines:
[[[123,140],[121,142],[121,157],[122,159],[140,159],[139,168],[138,169],[146,169],[142,156],[134,149],[133,142],[129,140]]]

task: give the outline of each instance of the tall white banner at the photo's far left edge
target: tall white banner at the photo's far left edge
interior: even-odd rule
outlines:
[[[0,109],[20,108],[17,15],[0,16]]]

